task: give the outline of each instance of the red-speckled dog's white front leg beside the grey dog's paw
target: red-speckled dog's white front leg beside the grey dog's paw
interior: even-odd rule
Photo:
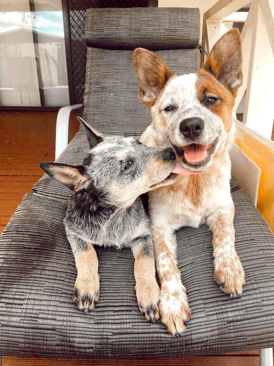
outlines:
[[[156,269],[161,284],[161,321],[172,334],[182,333],[190,319],[186,289],[176,261],[176,238],[167,226],[153,229]]]

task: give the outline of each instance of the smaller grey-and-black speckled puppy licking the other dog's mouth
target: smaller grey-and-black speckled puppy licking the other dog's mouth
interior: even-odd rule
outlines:
[[[130,247],[139,309],[147,320],[158,320],[160,290],[150,222],[139,196],[175,181],[175,154],[171,148],[147,147],[133,137],[103,137],[79,120],[90,146],[83,165],[40,164],[74,191],[64,219],[77,268],[74,301],[80,310],[91,311],[99,300],[93,245]]]

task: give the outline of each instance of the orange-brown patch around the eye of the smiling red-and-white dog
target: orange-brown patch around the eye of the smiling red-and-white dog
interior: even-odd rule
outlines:
[[[197,73],[196,90],[201,104],[218,115],[223,121],[225,131],[229,132],[235,94],[206,70],[200,70]],[[217,99],[213,103],[208,103],[208,100],[215,98]]]

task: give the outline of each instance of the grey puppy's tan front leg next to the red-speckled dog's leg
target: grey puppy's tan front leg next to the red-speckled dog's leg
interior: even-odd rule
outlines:
[[[132,247],[135,257],[134,275],[136,280],[136,296],[139,310],[147,320],[160,318],[158,304],[160,289],[155,277],[155,261],[153,243],[150,235],[139,238]]]

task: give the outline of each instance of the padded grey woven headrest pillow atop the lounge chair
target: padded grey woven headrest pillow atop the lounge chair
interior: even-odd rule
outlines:
[[[88,9],[85,33],[91,47],[195,48],[200,38],[200,14],[198,8]]]

